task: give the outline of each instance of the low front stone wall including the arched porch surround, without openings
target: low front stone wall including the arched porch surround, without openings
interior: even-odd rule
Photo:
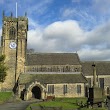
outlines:
[[[51,91],[49,92],[49,86],[53,87],[53,92],[51,93]],[[67,85],[67,92],[64,93],[64,85]],[[77,90],[77,86],[80,85],[81,87],[81,93],[78,93]],[[46,99],[47,96],[55,96],[58,98],[63,98],[63,97],[69,97],[69,98],[73,98],[73,97],[84,97],[85,96],[85,88],[84,88],[84,84],[83,83],[76,83],[76,84],[47,84],[45,85],[45,87],[43,85],[41,85],[40,83],[32,83],[28,86],[28,88],[26,88],[25,85],[19,85],[18,88],[18,95],[19,97],[21,97],[21,94],[23,93],[23,90],[26,88],[26,91],[24,92],[24,99],[25,100],[29,100],[32,98],[32,88],[38,86],[41,89],[41,98],[42,99]]]

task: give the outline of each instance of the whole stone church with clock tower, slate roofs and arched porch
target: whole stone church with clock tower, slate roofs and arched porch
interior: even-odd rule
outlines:
[[[82,62],[77,53],[27,53],[28,18],[2,19],[1,54],[9,68],[1,91],[14,91],[21,99],[85,97],[93,82],[94,62]],[[95,62],[97,81],[109,94],[110,62]]]

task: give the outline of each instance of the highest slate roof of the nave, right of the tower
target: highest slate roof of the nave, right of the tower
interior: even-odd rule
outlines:
[[[26,66],[30,65],[79,65],[77,53],[34,53],[27,54]]]

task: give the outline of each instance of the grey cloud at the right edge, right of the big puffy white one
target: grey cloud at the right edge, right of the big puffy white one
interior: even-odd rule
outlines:
[[[85,41],[88,45],[108,45],[110,42],[110,22],[96,27],[94,30],[87,32]]]

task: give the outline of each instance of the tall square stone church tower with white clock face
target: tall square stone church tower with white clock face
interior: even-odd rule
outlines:
[[[5,64],[8,67],[2,89],[13,89],[20,73],[24,72],[27,49],[28,18],[5,16],[2,19],[2,54],[6,56]]]

